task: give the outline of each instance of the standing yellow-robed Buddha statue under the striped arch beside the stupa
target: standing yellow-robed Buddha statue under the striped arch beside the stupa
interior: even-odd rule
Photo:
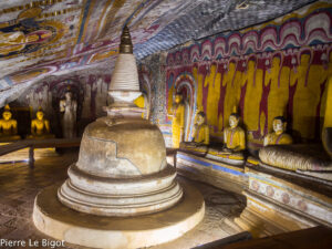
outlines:
[[[185,104],[183,103],[183,95],[175,95],[175,104],[173,105],[173,120],[172,120],[172,139],[173,147],[178,148],[180,142],[184,141],[185,127]]]

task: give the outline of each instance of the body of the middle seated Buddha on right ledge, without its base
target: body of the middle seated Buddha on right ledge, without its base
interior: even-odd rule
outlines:
[[[224,131],[224,152],[236,153],[246,149],[246,134],[239,126],[240,116],[232,113],[229,116],[229,127]]]

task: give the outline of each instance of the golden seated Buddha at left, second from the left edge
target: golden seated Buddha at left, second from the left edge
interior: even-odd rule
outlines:
[[[44,118],[44,113],[41,108],[35,113],[35,117],[31,121],[31,135],[28,138],[44,139],[55,137],[53,134],[50,134],[50,122]]]

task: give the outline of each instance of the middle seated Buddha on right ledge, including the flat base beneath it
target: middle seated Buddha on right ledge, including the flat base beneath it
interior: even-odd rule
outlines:
[[[229,127],[224,129],[224,147],[208,149],[207,158],[242,165],[245,163],[243,151],[246,149],[246,134],[239,126],[240,116],[232,113],[229,116]]]

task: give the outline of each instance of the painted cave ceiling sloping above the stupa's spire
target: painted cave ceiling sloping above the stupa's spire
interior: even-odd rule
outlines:
[[[0,106],[51,75],[106,66],[125,24],[136,58],[258,24],[313,0],[0,1]]]

